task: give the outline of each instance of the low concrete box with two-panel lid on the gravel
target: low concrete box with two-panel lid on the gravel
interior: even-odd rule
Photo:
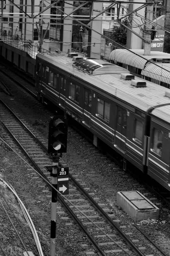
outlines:
[[[135,222],[159,218],[159,208],[138,191],[118,192],[117,204]]]

